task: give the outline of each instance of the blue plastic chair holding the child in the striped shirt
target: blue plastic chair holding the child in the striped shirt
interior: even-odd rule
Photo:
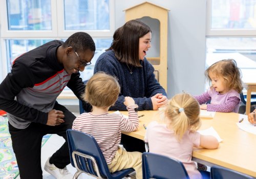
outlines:
[[[96,140],[87,133],[67,130],[71,165],[77,169],[73,178],[87,173],[97,178],[123,178],[134,171],[133,168],[110,173],[105,158]]]

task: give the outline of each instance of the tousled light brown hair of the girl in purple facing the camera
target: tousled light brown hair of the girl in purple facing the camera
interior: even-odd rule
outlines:
[[[205,76],[209,81],[211,81],[209,73],[223,77],[229,90],[234,89],[238,93],[242,92],[243,84],[241,80],[241,73],[235,60],[220,60],[210,65],[205,71]]]

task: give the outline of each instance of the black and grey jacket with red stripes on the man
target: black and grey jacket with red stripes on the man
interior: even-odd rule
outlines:
[[[48,112],[65,86],[82,100],[85,85],[80,74],[67,74],[57,61],[61,44],[53,40],[19,56],[0,84],[0,108],[7,111],[14,127],[26,128],[30,122],[46,124]],[[87,103],[84,107],[91,109]]]

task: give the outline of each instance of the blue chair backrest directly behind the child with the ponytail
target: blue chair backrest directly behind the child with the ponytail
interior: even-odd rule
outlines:
[[[143,152],[142,154],[142,171],[143,179],[189,178],[184,165],[180,161],[150,152]]]

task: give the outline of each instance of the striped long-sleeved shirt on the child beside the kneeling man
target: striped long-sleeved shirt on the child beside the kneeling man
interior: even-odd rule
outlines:
[[[138,113],[134,110],[137,107],[137,104],[127,107],[129,119],[124,118],[121,114],[92,115],[83,113],[74,120],[72,129],[93,136],[109,165],[120,144],[121,131],[132,132],[139,126]]]

